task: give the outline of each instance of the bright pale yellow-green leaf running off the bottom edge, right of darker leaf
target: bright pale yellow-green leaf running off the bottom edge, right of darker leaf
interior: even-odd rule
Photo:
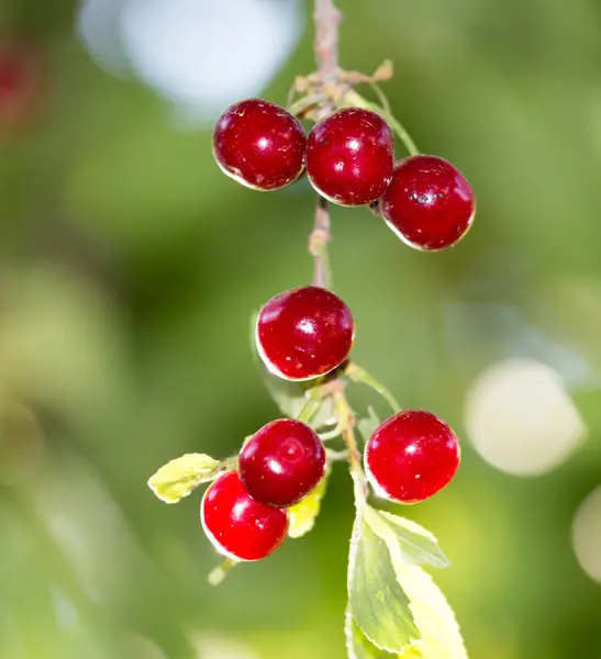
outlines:
[[[410,600],[422,643],[402,659],[467,659],[455,614],[432,577],[419,566],[393,559],[397,580]]]

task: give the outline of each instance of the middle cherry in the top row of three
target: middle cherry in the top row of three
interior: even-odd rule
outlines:
[[[393,161],[392,132],[370,110],[340,110],[315,124],[307,139],[311,185],[341,205],[378,199],[390,181]]]

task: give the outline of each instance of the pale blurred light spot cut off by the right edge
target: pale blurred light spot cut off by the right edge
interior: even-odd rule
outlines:
[[[601,487],[580,504],[571,537],[578,562],[591,579],[601,583]]]

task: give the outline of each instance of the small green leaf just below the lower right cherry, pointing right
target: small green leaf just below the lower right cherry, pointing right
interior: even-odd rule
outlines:
[[[371,530],[380,537],[389,548],[394,547],[398,560],[403,565],[430,565],[434,568],[448,568],[450,562],[444,555],[436,537],[411,520],[392,515],[386,511],[377,511],[367,506],[366,522]]]

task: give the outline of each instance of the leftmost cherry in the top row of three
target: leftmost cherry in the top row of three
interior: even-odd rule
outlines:
[[[213,156],[221,169],[255,190],[296,181],[304,169],[307,138],[300,122],[261,99],[230,105],[213,131]]]

